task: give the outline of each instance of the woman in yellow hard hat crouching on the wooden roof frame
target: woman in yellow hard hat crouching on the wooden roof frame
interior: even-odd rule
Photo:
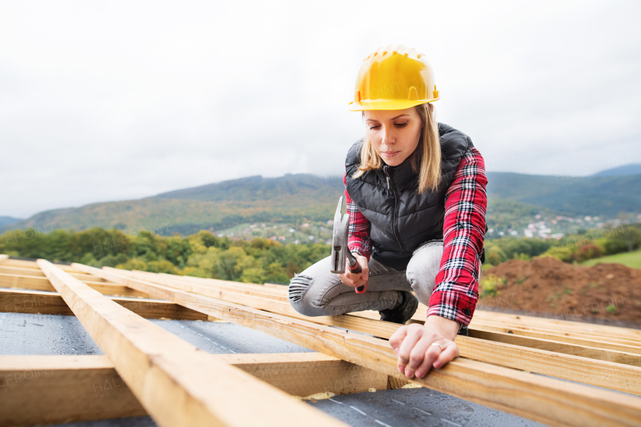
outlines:
[[[483,158],[467,135],[435,121],[438,99],[415,49],[385,46],[365,58],[349,110],[362,111],[367,128],[347,153],[344,176],[348,246],[362,272],[331,274],[326,258],[289,288],[304,315],[378,310],[403,325],[418,298],[429,307],[425,324],[390,337],[408,378],[458,356],[454,338],[467,335],[476,307],[487,231]],[[365,293],[354,292],[366,283]]]

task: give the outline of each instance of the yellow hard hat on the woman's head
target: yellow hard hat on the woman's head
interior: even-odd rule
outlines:
[[[434,71],[412,47],[383,46],[363,60],[351,111],[404,110],[439,99]]]

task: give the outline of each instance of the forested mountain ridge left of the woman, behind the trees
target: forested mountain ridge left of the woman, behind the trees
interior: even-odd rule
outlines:
[[[221,230],[244,222],[326,221],[343,194],[341,178],[287,174],[251,176],[175,190],[138,200],[92,203],[40,212],[2,230],[92,227],[171,235]]]

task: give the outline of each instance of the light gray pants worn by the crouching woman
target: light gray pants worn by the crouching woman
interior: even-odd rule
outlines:
[[[329,256],[291,280],[289,301],[306,316],[338,315],[363,310],[386,310],[399,301],[399,290],[413,290],[424,305],[434,290],[443,256],[443,242],[428,242],[414,251],[406,271],[397,271],[369,260],[367,291],[356,294],[337,274],[329,272]]]

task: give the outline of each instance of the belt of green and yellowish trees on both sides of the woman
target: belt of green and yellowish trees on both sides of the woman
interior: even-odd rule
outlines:
[[[146,230],[92,228],[85,231],[39,228],[6,231],[0,253],[54,262],[80,262],[94,267],[166,272],[247,283],[288,283],[294,274],[329,256],[322,243],[281,244],[271,239],[232,240],[201,230],[165,237]],[[519,258],[554,256],[563,262],[633,251],[641,246],[638,224],[592,229],[560,240],[506,237],[485,240],[485,266]]]

